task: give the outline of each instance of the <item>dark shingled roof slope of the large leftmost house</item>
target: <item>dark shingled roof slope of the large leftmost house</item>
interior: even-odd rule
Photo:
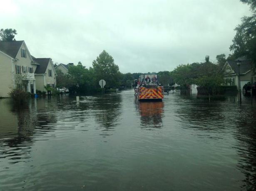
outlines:
[[[0,41],[0,51],[12,58],[16,58],[23,42],[24,41]]]

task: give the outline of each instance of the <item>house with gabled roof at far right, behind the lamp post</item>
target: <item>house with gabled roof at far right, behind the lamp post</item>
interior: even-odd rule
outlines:
[[[239,89],[239,78],[238,78],[238,66],[237,60],[234,61],[226,61],[223,71],[224,71],[224,85],[227,86],[236,86]],[[240,60],[240,82],[241,82],[241,89],[243,86],[250,82],[252,79],[255,80],[253,77],[253,70],[252,70],[252,63],[249,60]]]

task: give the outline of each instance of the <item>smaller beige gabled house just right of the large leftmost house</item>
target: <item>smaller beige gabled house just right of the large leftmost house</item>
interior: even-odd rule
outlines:
[[[45,86],[49,85],[56,87],[56,72],[52,64],[51,58],[34,58],[35,63],[38,63],[35,70],[35,83],[37,90],[45,91]]]

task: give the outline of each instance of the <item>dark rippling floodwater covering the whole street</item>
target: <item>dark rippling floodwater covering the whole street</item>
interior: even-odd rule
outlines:
[[[256,98],[0,99],[0,190],[256,190]]]

